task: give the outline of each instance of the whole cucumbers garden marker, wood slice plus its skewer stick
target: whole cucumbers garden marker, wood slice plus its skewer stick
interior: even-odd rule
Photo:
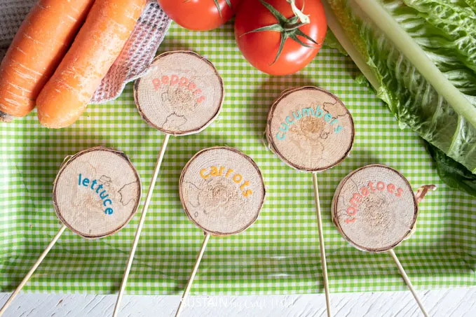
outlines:
[[[268,112],[269,148],[290,167],[313,174],[327,316],[331,316],[331,305],[316,174],[347,157],[354,134],[353,118],[346,106],[334,94],[318,87],[285,90]]]

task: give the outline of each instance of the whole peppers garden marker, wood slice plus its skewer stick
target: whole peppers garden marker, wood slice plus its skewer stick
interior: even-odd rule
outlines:
[[[142,78],[135,81],[134,100],[142,118],[151,127],[165,133],[165,138],[142,208],[114,317],[118,315],[168,140],[171,135],[194,134],[208,127],[222,110],[224,85],[215,66],[205,57],[190,51],[165,52],[154,59]]]

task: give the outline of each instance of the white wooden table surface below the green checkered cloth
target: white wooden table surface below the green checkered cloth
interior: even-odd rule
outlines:
[[[0,293],[0,305],[9,294]],[[419,291],[430,316],[476,316],[476,288]],[[119,316],[174,316],[179,296],[125,295]],[[332,316],[422,316],[409,292],[332,294]],[[4,317],[111,316],[115,295],[61,295],[21,293]],[[183,317],[326,316],[325,296],[191,296]]]

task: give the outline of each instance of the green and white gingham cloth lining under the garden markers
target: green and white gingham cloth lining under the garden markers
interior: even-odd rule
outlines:
[[[395,249],[419,289],[475,286],[476,199],[449,189],[437,177],[423,142],[400,129],[369,88],[355,83],[351,59],[330,48],[303,71],[285,77],[260,73],[240,55],[233,25],[215,31],[186,31],[172,24],[158,52],[195,50],[208,57],[226,85],[224,108],[204,132],[172,137],[128,282],[127,293],[181,293],[203,233],[179,202],[178,179],[194,153],[233,146],[250,155],[264,173],[268,197],[257,222],[233,237],[212,237],[193,283],[195,294],[283,294],[323,291],[311,175],[281,162],[263,143],[268,107],[288,87],[317,85],[339,96],[355,120],[355,146],[339,166],[318,175],[331,292],[406,290],[386,253],[350,246],[331,223],[330,203],[344,176],[365,164],[388,164],[416,190],[434,183],[421,204],[412,239]],[[0,288],[20,283],[60,229],[53,211],[53,179],[62,160],[92,146],[123,150],[149,187],[163,134],[144,122],[132,86],[109,104],[89,106],[68,129],[46,129],[36,111],[0,124]],[[142,208],[142,206],[141,206]],[[139,214],[112,237],[88,241],[69,230],[43,261],[26,291],[116,293]]]

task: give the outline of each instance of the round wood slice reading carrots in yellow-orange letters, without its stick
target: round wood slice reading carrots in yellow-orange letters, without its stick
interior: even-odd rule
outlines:
[[[226,169],[222,172],[222,176],[210,176],[208,180],[203,179],[200,176],[200,171],[207,169],[204,174],[210,174],[212,166],[218,169],[225,167]],[[233,172],[226,177],[225,174],[229,169],[233,169]],[[195,173],[193,174],[193,172]],[[236,174],[243,177],[238,183],[233,181]],[[191,183],[192,180],[193,183]],[[242,190],[240,185],[243,185],[245,181],[250,181],[250,185],[243,187]],[[200,185],[203,185],[202,190],[200,190]],[[219,189],[217,190],[217,188]],[[252,195],[243,197],[243,191],[248,189],[252,190]],[[208,234],[227,236],[246,230],[257,220],[264,204],[266,188],[263,175],[251,157],[235,148],[215,146],[200,150],[186,163],[180,174],[179,196],[184,211],[191,222]],[[203,201],[200,202],[200,197],[205,197],[203,199],[205,200],[204,204],[210,197],[215,199],[226,197],[228,200],[227,204],[222,206],[219,204],[222,202],[220,199],[217,199],[217,202],[212,206],[201,206],[200,203],[203,203]],[[228,202],[231,202],[231,204]],[[238,211],[235,215],[240,217],[230,220],[229,215],[233,211]],[[203,219],[196,219],[198,216],[202,216],[200,213],[203,213],[203,215],[215,213],[216,216],[222,216],[222,218],[211,218],[213,216],[210,215]],[[223,215],[225,216],[223,217]],[[208,222],[205,221],[206,218],[208,218]],[[224,222],[224,218],[230,220],[230,222]],[[213,227],[210,226],[210,223],[213,224]]]

